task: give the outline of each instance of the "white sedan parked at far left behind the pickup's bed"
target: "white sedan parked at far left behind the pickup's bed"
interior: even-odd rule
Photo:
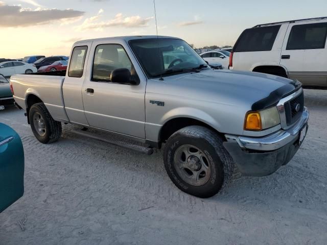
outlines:
[[[0,75],[10,77],[14,74],[30,74],[37,72],[37,68],[33,64],[22,61],[6,61],[0,63]]]

